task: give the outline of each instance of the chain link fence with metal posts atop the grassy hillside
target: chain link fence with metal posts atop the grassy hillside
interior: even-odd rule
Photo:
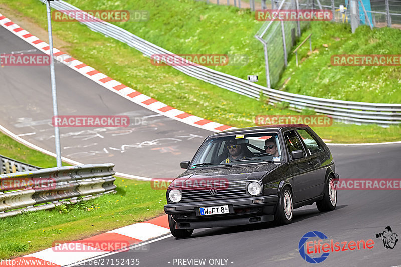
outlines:
[[[356,27],[392,27],[401,29],[400,0],[271,0],[271,7],[278,10],[325,9],[331,10],[332,21],[351,23],[352,1],[358,3]],[[363,5],[362,5],[363,3]],[[298,5],[298,7],[297,7]],[[276,85],[287,66],[287,56],[310,22],[265,21],[255,38],[264,46],[267,87]],[[313,38],[313,37],[312,37]]]

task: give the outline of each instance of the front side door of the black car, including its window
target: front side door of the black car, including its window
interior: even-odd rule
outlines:
[[[308,154],[306,153],[303,144],[295,130],[284,132],[283,135],[288,153],[288,164],[293,175],[294,203],[313,198],[313,196],[310,196],[309,189],[313,187],[313,178],[311,177],[311,172],[314,169],[314,164],[308,157]],[[302,150],[304,152],[304,156],[300,159],[292,159],[291,152],[295,150]]]

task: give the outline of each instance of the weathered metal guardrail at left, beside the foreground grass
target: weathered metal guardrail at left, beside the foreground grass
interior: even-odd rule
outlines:
[[[0,175],[0,218],[24,211],[54,208],[67,200],[77,202],[115,192],[113,163],[55,167]],[[27,181],[46,181],[19,190],[8,190],[9,184],[29,184]],[[30,184],[32,185],[32,184]],[[5,189],[7,188],[7,189]],[[7,191],[8,190],[8,191]],[[34,206],[35,205],[35,206]]]

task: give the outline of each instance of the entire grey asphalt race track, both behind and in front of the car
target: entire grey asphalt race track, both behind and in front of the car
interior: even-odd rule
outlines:
[[[30,49],[26,42],[0,28],[2,53]],[[146,125],[133,125],[128,132],[61,128],[65,157],[83,163],[114,162],[120,172],[171,178],[181,172],[179,162],[191,159],[210,134],[144,109],[64,65],[58,64],[56,72],[60,115],[128,114],[149,121]],[[49,68],[6,66],[0,69],[0,80],[0,124],[54,151]],[[399,178],[401,144],[330,149],[341,179]],[[342,190],[338,191],[336,210],[320,213],[315,204],[306,206],[295,210],[293,223],[286,226],[267,223],[195,230],[188,239],[167,236],[149,243],[143,250],[116,253],[103,259],[109,259],[108,266],[112,266],[111,259],[139,259],[139,266],[146,267],[311,266],[300,256],[298,243],[305,233],[320,231],[334,242],[372,239],[375,244],[372,249],[330,252],[327,259],[316,265],[395,266],[401,264],[401,241],[394,249],[387,249],[375,234],[391,226],[401,237],[400,202],[401,194],[396,190]],[[194,259],[205,259],[205,263],[189,264]]]

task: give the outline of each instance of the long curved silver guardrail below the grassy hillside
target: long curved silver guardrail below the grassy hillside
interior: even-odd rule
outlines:
[[[46,0],[39,1],[44,3]],[[51,1],[50,3],[52,8],[60,11],[80,11],[80,9],[62,0]],[[153,54],[175,55],[174,53],[156,46],[111,23],[104,21],[81,23],[88,26],[92,31],[112,37],[129,45],[130,47],[139,50],[148,57]],[[401,123],[401,104],[365,103],[297,95],[266,88],[252,82],[248,82],[244,79],[209,69],[205,66],[189,65],[172,67],[191,77],[241,95],[258,99],[259,93],[262,91],[266,96],[269,97],[270,104],[288,102],[290,107],[295,110],[299,111],[304,108],[313,109],[317,113],[331,115],[334,119],[345,120],[347,123],[376,123],[381,126]]]

